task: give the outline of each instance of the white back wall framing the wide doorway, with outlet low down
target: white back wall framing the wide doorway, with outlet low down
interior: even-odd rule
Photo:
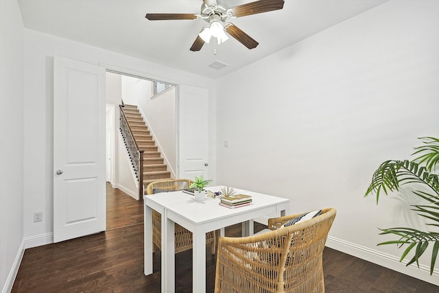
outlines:
[[[51,242],[53,231],[53,56],[60,55],[112,70],[209,88],[215,104],[215,82],[209,78],[156,65],[111,51],[75,43],[73,41],[25,29],[25,172],[24,233],[27,239],[45,237]],[[215,109],[211,128],[211,145],[215,150]],[[215,162],[215,154],[212,154]],[[43,222],[34,224],[34,211],[43,211]],[[41,242],[40,244],[43,244]]]

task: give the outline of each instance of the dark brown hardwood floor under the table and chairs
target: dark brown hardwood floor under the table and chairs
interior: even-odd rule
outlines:
[[[103,233],[25,250],[12,292],[160,292],[161,258],[143,275],[143,206],[107,185]],[[254,230],[263,225],[255,223]],[[226,228],[239,236],[241,225]],[[439,292],[439,287],[331,248],[324,249],[327,293]],[[215,256],[206,252],[206,292],[213,292]],[[176,292],[192,292],[192,250],[176,255]],[[243,292],[245,293],[245,292]],[[306,292],[305,292],[306,293]]]

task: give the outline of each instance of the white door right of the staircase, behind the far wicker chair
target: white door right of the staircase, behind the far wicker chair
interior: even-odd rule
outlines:
[[[179,175],[209,179],[209,90],[180,85]]]

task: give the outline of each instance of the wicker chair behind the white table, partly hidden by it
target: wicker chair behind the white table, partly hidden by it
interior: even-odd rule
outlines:
[[[166,179],[157,180],[147,185],[146,194],[156,194],[165,191],[177,191],[182,189],[188,189],[193,183],[189,179]],[[152,210],[152,244],[153,250],[155,246],[161,250],[161,214]],[[182,251],[192,248],[192,232],[183,228],[179,224],[175,224],[175,252],[180,253]],[[211,244],[211,253],[215,254],[215,231],[206,233],[206,244]],[[155,244],[155,246],[154,246]]]

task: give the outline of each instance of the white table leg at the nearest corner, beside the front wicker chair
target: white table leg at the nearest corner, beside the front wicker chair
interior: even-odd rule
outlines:
[[[193,233],[192,292],[206,292],[206,232]]]

